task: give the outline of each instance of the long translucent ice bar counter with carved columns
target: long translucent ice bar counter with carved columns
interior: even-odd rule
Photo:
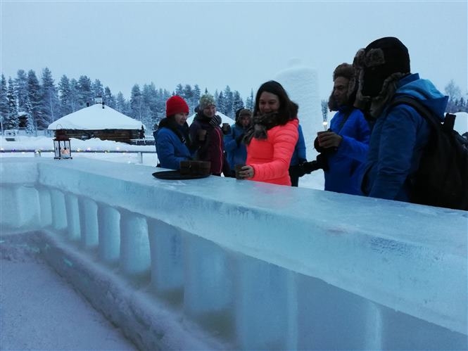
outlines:
[[[467,348],[467,212],[96,160],[0,167],[2,235],[43,231],[141,348]],[[115,276],[134,293],[111,298]]]

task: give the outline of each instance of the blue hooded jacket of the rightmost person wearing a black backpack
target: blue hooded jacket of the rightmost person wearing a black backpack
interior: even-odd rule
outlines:
[[[407,75],[398,82],[396,96],[412,96],[443,120],[448,96],[427,79]],[[369,144],[362,189],[373,198],[410,201],[410,177],[419,167],[429,141],[429,125],[407,105],[384,109],[378,117]]]

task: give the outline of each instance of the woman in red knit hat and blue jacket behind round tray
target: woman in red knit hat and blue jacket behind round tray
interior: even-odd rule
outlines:
[[[191,160],[189,149],[189,106],[180,96],[171,96],[166,101],[166,117],[159,122],[155,133],[158,167],[180,170],[180,161]]]

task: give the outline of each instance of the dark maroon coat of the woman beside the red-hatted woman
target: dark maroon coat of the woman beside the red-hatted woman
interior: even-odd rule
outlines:
[[[210,117],[206,117],[200,112],[194,118],[190,125],[190,140],[196,149],[196,159],[211,162],[211,174],[225,174],[229,165],[224,165],[224,142],[223,134],[219,125],[210,125]],[[198,129],[206,130],[205,141],[198,140]]]

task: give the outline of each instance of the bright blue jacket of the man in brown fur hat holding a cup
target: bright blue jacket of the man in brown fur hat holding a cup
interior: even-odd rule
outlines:
[[[350,111],[350,107],[343,106],[331,118],[330,129],[343,139],[336,153],[328,155],[325,190],[362,195],[360,180],[369,151],[369,124],[360,110],[353,108]]]

